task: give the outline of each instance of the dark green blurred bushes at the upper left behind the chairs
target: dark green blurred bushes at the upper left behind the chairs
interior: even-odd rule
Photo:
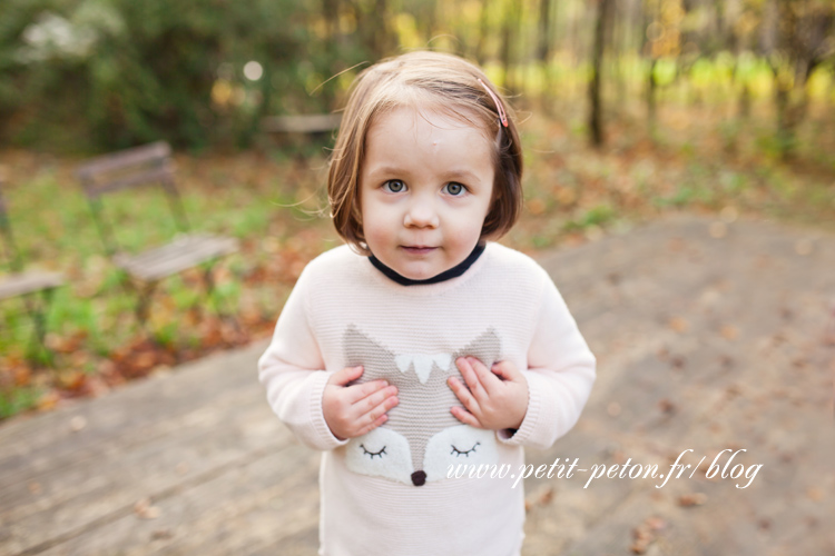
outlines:
[[[306,6],[6,0],[0,140],[57,150],[160,138],[234,147],[250,141],[266,113],[328,110],[333,87],[310,90],[330,77],[334,53],[316,48]],[[247,77],[248,62],[259,71]]]

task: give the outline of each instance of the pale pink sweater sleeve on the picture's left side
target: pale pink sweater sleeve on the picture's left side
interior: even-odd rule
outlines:
[[[278,418],[314,449],[342,446],[322,411],[322,395],[332,373],[324,370],[308,310],[310,272],[302,272],[284,305],[273,340],[258,360],[258,378]]]

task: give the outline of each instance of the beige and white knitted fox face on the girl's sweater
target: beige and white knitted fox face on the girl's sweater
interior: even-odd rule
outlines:
[[[348,469],[422,486],[446,478],[450,466],[498,461],[495,433],[458,420],[450,408],[460,401],[446,384],[451,376],[463,383],[459,357],[477,357],[488,368],[499,360],[501,342],[492,328],[451,354],[395,354],[353,325],[343,346],[347,366],[364,367],[357,383],[385,379],[400,398],[383,426],[347,444]]]

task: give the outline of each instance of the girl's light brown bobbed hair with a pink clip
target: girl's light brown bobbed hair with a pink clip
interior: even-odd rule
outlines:
[[[487,87],[503,103],[508,127],[502,126],[499,107]],[[331,217],[340,236],[365,255],[369,250],[358,191],[365,136],[381,113],[402,106],[426,105],[483,129],[489,139],[495,140],[493,199],[481,237],[499,238],[519,218],[522,150],[513,110],[474,64],[452,54],[410,52],[383,60],[354,80],[331,158],[327,178]]]

